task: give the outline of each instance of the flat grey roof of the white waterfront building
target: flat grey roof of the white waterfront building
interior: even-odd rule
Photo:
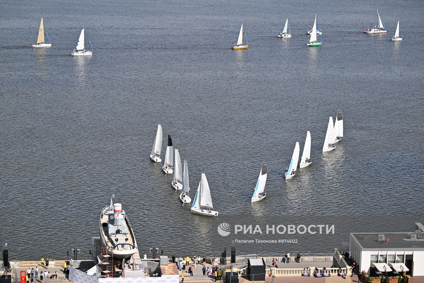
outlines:
[[[410,234],[412,233],[351,233],[363,249],[424,251],[424,235],[416,241],[411,241]],[[378,241],[378,235],[384,235],[385,239],[389,238],[388,243]]]

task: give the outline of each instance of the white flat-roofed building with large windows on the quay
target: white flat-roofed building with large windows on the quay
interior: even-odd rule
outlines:
[[[376,265],[384,265],[378,263],[390,268],[401,266],[402,270],[409,269],[406,272],[409,275],[424,276],[424,226],[416,225],[415,232],[350,233],[349,256],[359,265],[359,271],[365,270],[371,276],[375,274]]]

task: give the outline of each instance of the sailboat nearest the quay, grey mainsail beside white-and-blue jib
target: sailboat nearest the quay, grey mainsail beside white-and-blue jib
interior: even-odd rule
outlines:
[[[217,216],[218,211],[214,211],[211,208],[213,206],[208,180],[206,180],[206,175],[202,173],[202,178],[191,206],[191,212],[207,216]]]

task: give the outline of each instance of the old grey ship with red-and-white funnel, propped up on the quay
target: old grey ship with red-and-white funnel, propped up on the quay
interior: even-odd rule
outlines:
[[[100,215],[100,240],[116,258],[129,258],[138,252],[137,242],[130,221],[122,209],[122,204],[114,204],[103,208]]]

